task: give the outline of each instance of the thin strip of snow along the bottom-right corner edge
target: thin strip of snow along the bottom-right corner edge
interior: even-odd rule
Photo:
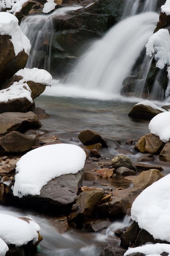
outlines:
[[[160,255],[163,252],[170,253],[170,245],[157,243],[155,245],[143,245],[135,248],[130,248],[127,252],[125,252],[124,256],[135,252],[140,252],[149,256],[156,256]]]

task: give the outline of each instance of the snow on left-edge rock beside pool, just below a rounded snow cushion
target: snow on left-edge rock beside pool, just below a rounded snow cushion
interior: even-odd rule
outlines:
[[[27,83],[15,82],[7,89],[0,90],[0,102],[7,102],[9,100],[26,97],[31,103],[31,89]]]

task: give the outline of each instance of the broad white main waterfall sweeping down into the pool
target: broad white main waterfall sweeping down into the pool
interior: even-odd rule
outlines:
[[[72,83],[119,94],[158,19],[157,13],[146,12],[119,22],[80,58]]]

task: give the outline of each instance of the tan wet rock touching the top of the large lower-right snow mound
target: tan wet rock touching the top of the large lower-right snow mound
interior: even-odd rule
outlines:
[[[152,183],[156,182],[164,176],[165,175],[163,175],[159,170],[150,169],[148,171],[141,172],[137,177],[135,177],[133,184],[135,187],[143,187],[146,189]]]

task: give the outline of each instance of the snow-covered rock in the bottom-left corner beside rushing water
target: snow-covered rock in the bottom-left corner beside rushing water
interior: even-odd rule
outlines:
[[[43,239],[40,226],[28,217],[16,218],[8,214],[0,214],[0,255],[21,255],[33,253]]]

